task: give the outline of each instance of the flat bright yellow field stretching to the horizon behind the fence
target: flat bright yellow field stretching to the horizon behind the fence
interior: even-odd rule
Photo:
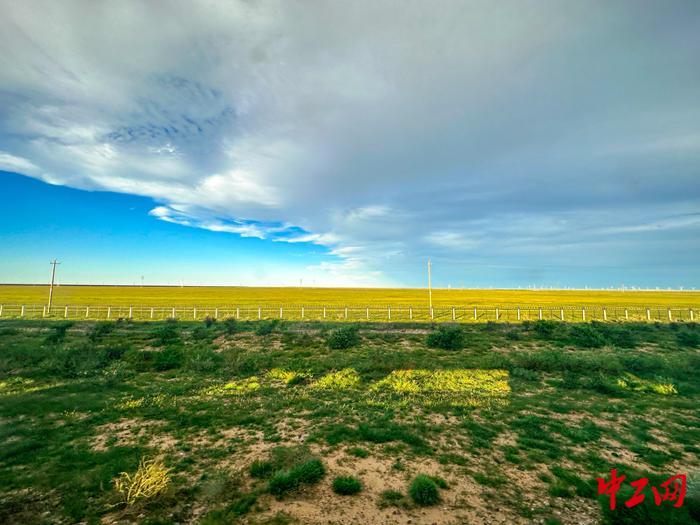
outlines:
[[[0,304],[43,304],[47,286],[0,285]],[[416,288],[253,288],[59,286],[54,304],[71,305],[411,305],[427,306]],[[578,290],[433,290],[434,306],[700,306],[700,292]]]

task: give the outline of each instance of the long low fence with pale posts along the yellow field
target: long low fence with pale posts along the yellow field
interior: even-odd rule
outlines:
[[[587,321],[676,322],[698,321],[700,307],[668,306],[338,306],[338,305],[238,305],[238,306],[109,306],[0,304],[2,319],[164,319],[240,320],[286,319],[290,321],[428,321],[483,323],[522,322],[539,319]]]

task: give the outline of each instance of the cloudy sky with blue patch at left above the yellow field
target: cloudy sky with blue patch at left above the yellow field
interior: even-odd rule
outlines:
[[[696,1],[0,15],[0,281],[700,287]]]

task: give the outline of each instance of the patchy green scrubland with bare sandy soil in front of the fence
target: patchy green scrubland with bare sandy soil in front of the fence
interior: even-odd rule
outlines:
[[[3,321],[0,522],[697,523],[699,368],[695,324]],[[612,468],[693,481],[610,513]]]

